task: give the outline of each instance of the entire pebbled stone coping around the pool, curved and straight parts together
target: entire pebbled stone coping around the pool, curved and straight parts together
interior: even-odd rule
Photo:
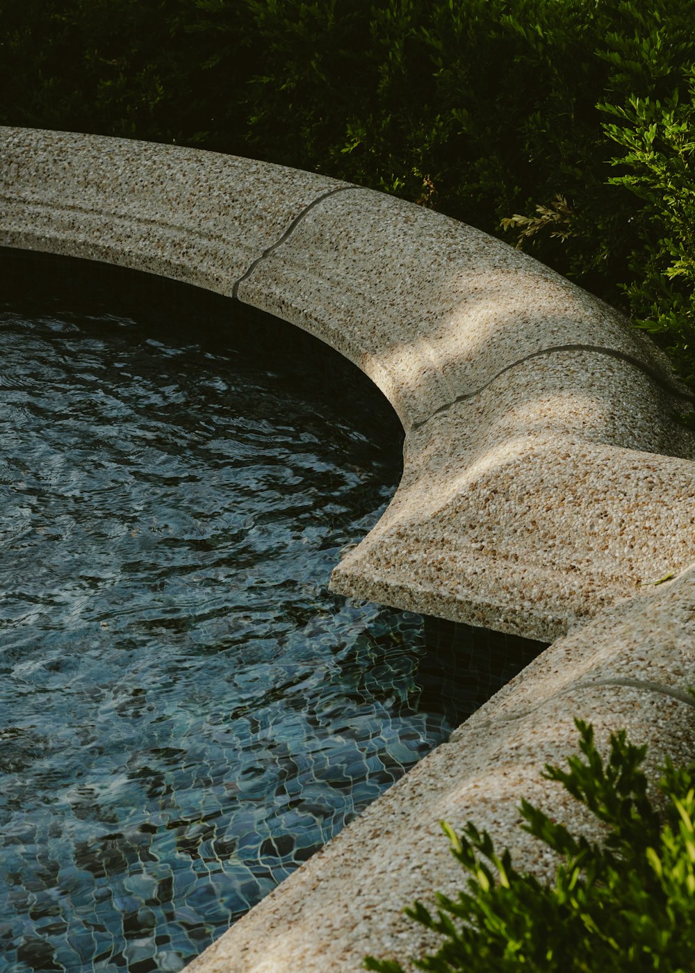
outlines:
[[[452,889],[438,821],[473,818],[539,873],[522,796],[626,727],[693,757],[693,396],[613,309],[504,243],[383,194],[269,163],[0,128],[0,245],[184,280],[345,354],[405,432],[384,517],[335,591],[556,641],[189,967],[357,970],[423,947],[401,913]],[[656,585],[665,576],[671,580]],[[582,826],[588,826],[583,822]]]

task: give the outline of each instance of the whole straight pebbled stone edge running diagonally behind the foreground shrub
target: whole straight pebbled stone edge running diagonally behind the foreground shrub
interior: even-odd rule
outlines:
[[[357,973],[366,954],[421,955],[433,940],[403,913],[433,890],[452,894],[457,868],[439,821],[487,828],[540,878],[555,862],[518,827],[522,797],[587,837],[581,806],[541,777],[575,752],[574,717],[607,749],[623,727],[648,742],[646,770],[693,759],[695,566],[642,590],[562,638],[375,801],[337,839],[188,967],[191,973]]]

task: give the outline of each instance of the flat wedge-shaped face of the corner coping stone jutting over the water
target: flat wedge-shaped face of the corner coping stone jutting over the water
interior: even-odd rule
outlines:
[[[438,493],[401,487],[334,590],[549,641],[693,560],[689,461],[528,436],[440,472]]]

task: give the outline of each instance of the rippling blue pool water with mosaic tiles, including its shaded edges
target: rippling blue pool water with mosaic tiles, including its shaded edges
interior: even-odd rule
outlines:
[[[401,473],[339,355],[0,271],[0,968],[176,971],[541,646],[328,592]]]

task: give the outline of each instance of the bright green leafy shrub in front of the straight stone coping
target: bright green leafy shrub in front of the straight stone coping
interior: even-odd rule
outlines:
[[[432,915],[420,902],[406,913],[444,937],[434,955],[412,960],[431,973],[630,973],[695,969],[695,764],[667,762],[652,802],[640,769],[646,747],[625,731],[604,761],[593,728],[577,721],[580,756],[568,770],[546,768],[601,822],[601,844],[523,801],[522,827],[562,859],[555,883],[518,872],[487,832],[469,823],[457,836],[443,824],[468,875],[457,899],[437,893]],[[658,809],[657,810],[657,805]],[[662,810],[663,808],[663,810]],[[392,959],[367,969],[403,973]]]

